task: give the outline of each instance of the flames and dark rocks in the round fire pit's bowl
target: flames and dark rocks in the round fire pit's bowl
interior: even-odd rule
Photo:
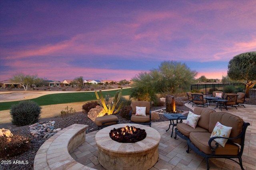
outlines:
[[[110,138],[120,143],[135,143],[146,138],[146,131],[144,129],[136,128],[134,126],[114,128],[109,133]]]

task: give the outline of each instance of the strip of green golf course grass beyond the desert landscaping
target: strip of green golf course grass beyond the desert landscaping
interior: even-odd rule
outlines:
[[[119,89],[120,90],[120,89]],[[114,97],[118,90],[102,91],[103,96],[109,95]],[[98,92],[99,94],[99,92]],[[123,89],[122,96],[130,95],[130,89]],[[31,99],[32,101],[38,103],[39,106],[51,105],[51,104],[64,104],[64,103],[74,103],[74,102],[86,102],[91,100],[97,100],[95,92],[79,92],[79,93],[60,93],[60,94],[48,94],[41,96],[39,98]],[[13,104],[18,104],[16,102],[1,102],[0,111],[8,110]]]

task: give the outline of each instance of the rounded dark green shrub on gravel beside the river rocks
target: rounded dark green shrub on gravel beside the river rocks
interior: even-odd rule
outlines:
[[[38,122],[42,107],[31,100],[24,100],[10,107],[12,124],[17,126],[31,125]]]

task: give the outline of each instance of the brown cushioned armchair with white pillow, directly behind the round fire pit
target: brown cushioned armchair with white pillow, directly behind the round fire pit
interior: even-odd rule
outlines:
[[[150,102],[135,101],[131,104],[130,123],[149,125],[151,127]]]

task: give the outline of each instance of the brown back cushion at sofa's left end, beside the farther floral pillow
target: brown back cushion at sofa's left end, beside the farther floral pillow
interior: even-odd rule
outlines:
[[[215,111],[206,107],[196,107],[194,109],[194,113],[197,115],[201,115],[197,122],[197,125],[199,127],[209,130],[210,113],[212,112]]]

